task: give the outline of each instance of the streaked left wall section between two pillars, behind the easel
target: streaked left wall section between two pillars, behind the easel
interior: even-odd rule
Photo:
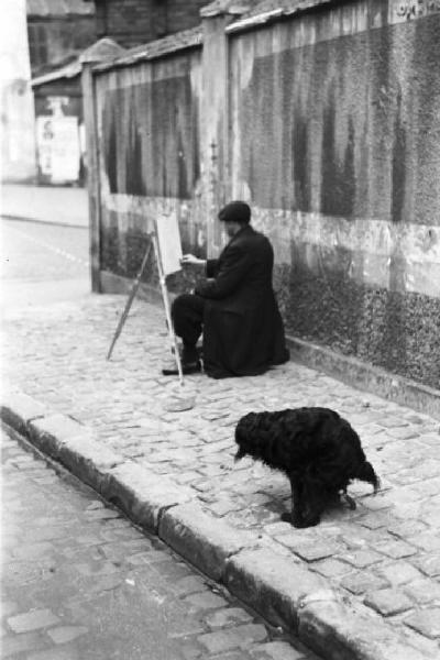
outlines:
[[[103,271],[133,277],[161,213],[177,215],[186,250],[206,249],[195,199],[199,59],[196,48],[97,77]]]

